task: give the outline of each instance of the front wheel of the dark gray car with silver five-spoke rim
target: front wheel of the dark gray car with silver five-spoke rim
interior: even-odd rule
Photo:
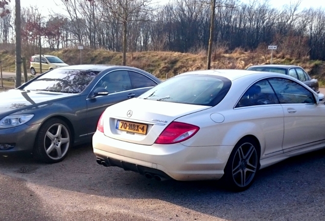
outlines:
[[[38,130],[34,156],[44,163],[58,163],[67,156],[71,143],[68,125],[60,119],[52,118],[45,121]]]

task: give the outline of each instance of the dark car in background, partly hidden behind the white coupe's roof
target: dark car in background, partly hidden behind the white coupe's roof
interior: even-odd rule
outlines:
[[[307,72],[296,65],[284,65],[284,64],[265,64],[265,65],[254,65],[247,70],[251,71],[263,71],[263,72],[275,72],[280,74],[289,75],[298,79],[313,89],[315,92],[319,93],[318,81],[311,78]]]

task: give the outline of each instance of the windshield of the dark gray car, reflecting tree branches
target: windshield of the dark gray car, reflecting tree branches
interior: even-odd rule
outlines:
[[[98,71],[55,69],[32,80],[21,89],[61,93],[81,93]]]

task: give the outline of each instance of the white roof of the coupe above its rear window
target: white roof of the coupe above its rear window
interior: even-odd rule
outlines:
[[[192,71],[186,72],[181,75],[216,75],[228,78],[229,80],[233,81],[237,78],[249,76],[249,75],[272,75],[272,76],[280,76],[283,77],[283,74],[273,73],[273,72],[263,72],[263,71],[250,71],[250,70],[237,70],[237,69],[217,69],[217,70],[203,70],[203,71]]]

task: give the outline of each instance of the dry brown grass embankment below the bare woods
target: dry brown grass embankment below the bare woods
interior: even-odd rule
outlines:
[[[271,51],[261,46],[254,51],[244,51],[238,48],[228,52],[223,45],[216,46],[212,53],[212,69],[246,69],[250,65],[266,64],[271,62]],[[80,64],[80,50],[62,49],[49,54],[56,55],[68,64]],[[15,57],[13,52],[0,51],[3,71],[14,71]],[[133,52],[127,53],[127,65],[143,69],[165,79],[187,71],[206,69],[207,54],[203,47],[195,47],[192,53],[179,52]],[[107,50],[82,50],[82,63],[90,64],[122,64],[122,53]],[[308,57],[296,59],[283,52],[273,51],[274,64],[300,65],[311,76],[325,82],[325,62],[311,61]],[[29,65],[29,64],[28,64]]]

